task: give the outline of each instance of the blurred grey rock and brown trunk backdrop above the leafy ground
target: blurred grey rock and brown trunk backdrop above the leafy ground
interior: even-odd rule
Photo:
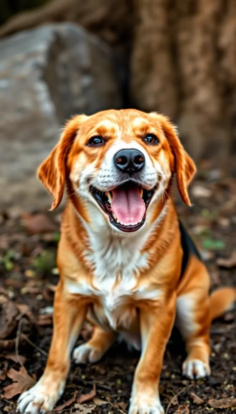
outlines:
[[[4,205],[44,207],[59,128],[108,108],[168,115],[198,166],[236,174],[234,0],[1,0],[0,24]]]

